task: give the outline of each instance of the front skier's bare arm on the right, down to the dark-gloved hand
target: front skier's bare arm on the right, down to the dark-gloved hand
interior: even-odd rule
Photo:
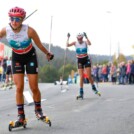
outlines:
[[[33,41],[37,45],[37,47],[43,53],[46,54],[48,60],[51,60],[51,58],[53,58],[53,55],[42,45],[37,32],[33,28],[31,28],[31,27],[28,28],[28,36],[29,36],[29,38],[33,39]]]

